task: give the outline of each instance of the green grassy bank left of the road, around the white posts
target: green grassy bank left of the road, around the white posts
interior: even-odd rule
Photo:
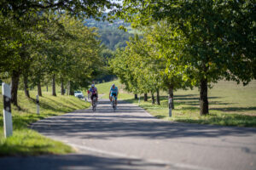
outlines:
[[[84,109],[89,103],[73,96],[51,96],[44,91],[40,97],[40,115],[36,114],[36,91],[31,91],[32,99],[27,99],[23,91],[19,91],[18,103],[21,111],[12,105],[14,132],[8,139],[3,134],[3,95],[0,87],[0,156],[35,156],[42,154],[66,154],[73,152],[73,148],[61,142],[45,138],[43,135],[29,128],[32,122],[37,122],[48,116],[59,116],[69,111]],[[45,89],[44,89],[45,90]]]

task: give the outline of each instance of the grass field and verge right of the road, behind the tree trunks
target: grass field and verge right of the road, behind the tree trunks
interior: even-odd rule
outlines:
[[[98,84],[100,94],[108,94],[113,82]],[[174,106],[172,117],[168,116],[168,101],[166,92],[160,93],[160,104],[152,105],[150,97],[148,102],[138,104],[133,99],[133,94],[125,93],[124,86],[119,81],[114,81],[121,92],[119,99],[126,99],[131,103],[140,105],[153,116],[177,122],[191,122],[201,124],[215,124],[225,126],[256,127],[256,81],[246,87],[237,85],[236,82],[220,81],[213,84],[208,90],[210,114],[200,116],[199,90],[177,90],[174,93]]]

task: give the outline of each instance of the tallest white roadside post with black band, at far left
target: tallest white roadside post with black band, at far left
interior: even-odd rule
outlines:
[[[3,93],[3,128],[4,137],[7,138],[13,135],[13,121],[11,114],[11,93],[10,87],[6,83],[2,83]]]

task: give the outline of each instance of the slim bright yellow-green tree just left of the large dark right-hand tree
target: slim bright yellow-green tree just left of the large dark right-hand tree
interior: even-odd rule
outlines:
[[[179,88],[192,88],[193,79],[186,74],[190,65],[180,65],[179,56],[183,55],[185,44],[181,37],[177,43],[177,32],[170,29],[166,20],[155,23],[143,29],[143,37],[147,42],[143,48],[148,48],[148,53],[153,55],[152,59],[158,60],[158,71],[161,77],[161,88],[167,91],[169,98],[172,98],[172,109],[174,109],[173,91]]]

